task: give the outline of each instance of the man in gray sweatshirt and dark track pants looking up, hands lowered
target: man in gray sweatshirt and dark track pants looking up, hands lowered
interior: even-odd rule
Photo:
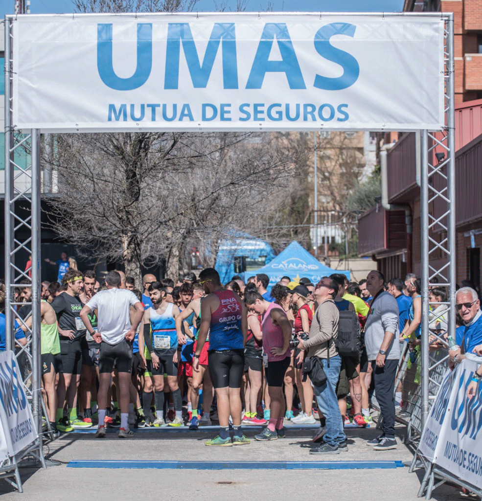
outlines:
[[[365,346],[383,417],[383,434],[367,442],[376,450],[395,449],[397,446],[393,392],[400,358],[398,304],[389,292],[383,290],[384,282],[385,277],[376,270],[368,274],[366,282],[373,301],[365,324]]]

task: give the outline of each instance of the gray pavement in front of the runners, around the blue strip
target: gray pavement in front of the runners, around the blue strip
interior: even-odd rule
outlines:
[[[289,430],[285,439],[252,441],[238,447],[206,447],[212,431],[185,430],[159,432],[138,430],[132,439],[119,439],[108,433],[96,439],[89,433],[64,434],[50,442],[46,457],[65,464],[46,470],[22,469],[24,493],[0,481],[2,501],[85,501],[86,499],[160,499],[178,501],[243,499],[310,499],[323,501],[377,500],[408,501],[416,497],[422,471],[408,468],[336,470],[262,470],[257,461],[410,461],[413,451],[401,443],[404,428],[399,428],[398,448],[374,451],[366,440],[378,435],[376,429],[347,429],[348,452],[319,457],[308,453],[314,428]],[[250,438],[257,431],[249,430]],[[183,470],[72,468],[71,460],[156,460],[156,461],[252,461],[252,469]],[[449,486],[434,491],[437,501],[467,499]]]

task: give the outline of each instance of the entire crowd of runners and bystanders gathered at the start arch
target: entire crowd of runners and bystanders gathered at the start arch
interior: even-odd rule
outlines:
[[[235,276],[223,285],[208,268],[176,282],[148,274],[136,284],[120,271],[99,280],[94,271],[64,266],[66,261],[63,255],[51,262],[59,266],[59,282],[42,283],[45,417],[56,435],[97,426],[96,437],[114,427],[127,438],[132,428],[197,430],[218,422],[218,433],[206,445],[231,446],[250,443],[243,432],[248,426],[264,426],[254,438],[270,441],[284,437],[284,424],[291,422],[319,425],[310,453],[339,453],[348,450],[346,425],[372,423],[375,389],[383,433],[368,444],[375,450],[396,447],[395,405],[407,406],[403,385],[394,392],[400,350],[408,343],[412,356],[420,346],[415,275],[386,283],[372,271],[358,284],[343,274],[317,284],[283,277],[268,292],[264,274],[247,283]],[[28,302],[31,294],[25,281],[16,290],[17,303]],[[447,339],[446,295],[442,287],[430,294],[434,350]],[[340,356],[337,348],[340,312],[347,310],[361,326],[355,356]],[[477,293],[459,289],[456,310],[453,344],[461,349],[452,347],[452,364],[463,353],[482,353]],[[21,346],[31,327],[31,306],[19,305],[17,313]],[[2,322],[5,350],[3,315]],[[310,368],[313,361],[321,364]]]

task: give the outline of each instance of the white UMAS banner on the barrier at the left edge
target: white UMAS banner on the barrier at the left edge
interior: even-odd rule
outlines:
[[[0,452],[7,449],[14,456],[37,438],[32,409],[12,351],[0,353],[0,422],[0,436],[6,442],[6,447],[0,445]]]

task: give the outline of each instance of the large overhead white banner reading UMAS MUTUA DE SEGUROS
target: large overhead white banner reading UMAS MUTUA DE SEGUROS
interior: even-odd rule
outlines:
[[[440,14],[18,16],[14,124],[439,130],[443,29]]]

